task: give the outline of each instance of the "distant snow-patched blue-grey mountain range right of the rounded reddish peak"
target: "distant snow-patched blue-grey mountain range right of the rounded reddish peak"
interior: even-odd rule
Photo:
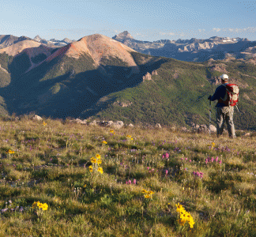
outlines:
[[[157,40],[154,42],[134,40],[129,32],[113,37],[121,43],[146,55],[175,58],[183,61],[205,62],[227,58],[255,58],[256,42],[247,38],[229,38],[213,36],[198,40]]]

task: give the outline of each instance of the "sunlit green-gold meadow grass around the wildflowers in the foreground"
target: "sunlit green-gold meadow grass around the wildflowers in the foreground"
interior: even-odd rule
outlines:
[[[229,140],[135,126],[111,134],[43,121],[0,121],[1,236],[256,236],[255,133]],[[89,171],[96,154],[103,174]],[[34,201],[48,209],[40,214]],[[194,228],[178,224],[178,202]]]

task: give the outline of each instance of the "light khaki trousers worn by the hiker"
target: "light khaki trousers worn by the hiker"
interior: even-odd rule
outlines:
[[[233,122],[234,107],[216,107],[216,129],[217,136],[221,135],[224,130],[224,122],[226,121],[228,126],[229,137],[235,137],[235,126]]]

